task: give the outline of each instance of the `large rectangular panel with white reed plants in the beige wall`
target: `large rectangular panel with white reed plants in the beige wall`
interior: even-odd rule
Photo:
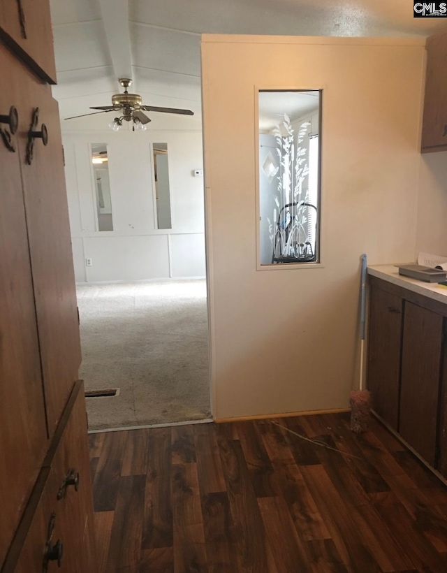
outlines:
[[[321,90],[261,90],[261,265],[319,260]]]

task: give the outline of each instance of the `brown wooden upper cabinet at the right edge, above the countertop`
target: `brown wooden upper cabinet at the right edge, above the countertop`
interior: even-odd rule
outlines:
[[[422,152],[447,150],[447,31],[427,38]]]

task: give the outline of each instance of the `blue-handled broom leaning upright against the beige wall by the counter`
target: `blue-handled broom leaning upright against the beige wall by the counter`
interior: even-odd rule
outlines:
[[[365,344],[366,255],[361,257],[360,274],[360,388],[351,392],[351,430],[361,434],[368,429],[371,394],[363,387],[363,347]]]

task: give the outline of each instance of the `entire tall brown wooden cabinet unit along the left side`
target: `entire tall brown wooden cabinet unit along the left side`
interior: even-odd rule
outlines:
[[[11,40],[20,6],[22,43]],[[48,1],[0,0],[0,69],[7,78],[0,90],[2,573],[43,571],[52,514],[53,539],[64,539],[61,570],[96,573],[64,161],[47,84],[52,68]],[[80,474],[78,491],[68,486],[58,499],[70,471]],[[54,568],[49,563],[48,571]]]

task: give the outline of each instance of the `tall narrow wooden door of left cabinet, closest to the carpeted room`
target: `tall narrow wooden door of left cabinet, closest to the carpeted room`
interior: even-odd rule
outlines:
[[[41,346],[45,403],[50,435],[54,432],[81,361],[78,307],[71,252],[64,159],[57,102],[50,88],[28,74],[22,85],[20,156],[36,316]],[[34,138],[27,160],[29,128],[38,108],[48,143]],[[29,164],[31,163],[31,164]]]

